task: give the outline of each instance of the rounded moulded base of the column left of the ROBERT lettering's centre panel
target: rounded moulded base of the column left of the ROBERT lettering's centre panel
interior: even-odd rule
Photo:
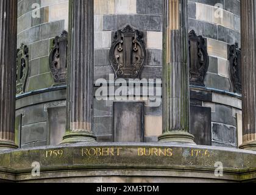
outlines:
[[[96,143],[96,136],[91,132],[67,132],[60,144]]]

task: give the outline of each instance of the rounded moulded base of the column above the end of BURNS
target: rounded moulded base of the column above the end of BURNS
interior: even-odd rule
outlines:
[[[166,132],[158,137],[160,143],[185,143],[185,144],[196,144],[194,143],[194,135],[187,132]]]

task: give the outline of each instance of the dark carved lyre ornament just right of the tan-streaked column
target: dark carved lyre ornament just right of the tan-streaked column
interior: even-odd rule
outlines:
[[[204,87],[204,79],[209,66],[205,39],[197,36],[194,30],[189,33],[190,85]]]

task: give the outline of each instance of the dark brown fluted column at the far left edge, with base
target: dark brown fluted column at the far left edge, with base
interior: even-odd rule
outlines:
[[[17,1],[0,1],[0,150],[15,145]]]

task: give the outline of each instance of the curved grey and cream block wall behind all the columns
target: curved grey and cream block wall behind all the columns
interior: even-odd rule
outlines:
[[[216,19],[214,5],[219,2],[223,5],[224,17]],[[68,1],[38,0],[40,9],[35,10],[34,3],[18,2],[17,48],[21,43],[26,44],[30,61],[26,93],[17,97],[16,105],[16,142],[21,147],[58,144],[65,132],[65,87],[52,88],[54,80],[48,58],[52,39],[68,30]],[[33,18],[39,10],[40,17]],[[162,0],[94,0],[94,82],[108,80],[109,74],[114,74],[109,51],[116,30],[126,24],[143,33],[147,60],[141,78],[162,79],[162,12]],[[232,93],[227,47],[236,41],[240,45],[240,1],[191,0],[188,13],[189,29],[207,40],[210,55],[205,87],[191,88],[191,129],[208,133],[208,143],[204,144],[237,147],[238,132],[241,132],[237,128],[241,125],[241,97]],[[154,86],[155,80],[152,83]],[[108,85],[111,85],[109,80]],[[94,87],[95,91],[98,89]],[[37,96],[40,102],[31,104]],[[110,142],[115,126],[114,108],[113,100],[110,96],[107,98],[94,99],[94,132],[99,141]],[[162,134],[162,104],[151,107],[150,98],[154,100],[155,94],[139,98],[146,103],[145,142],[155,142]],[[25,103],[20,106],[20,102]]]

